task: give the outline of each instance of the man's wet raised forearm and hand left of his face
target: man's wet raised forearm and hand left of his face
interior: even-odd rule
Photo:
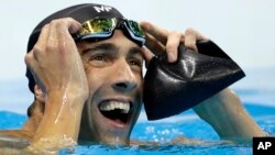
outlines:
[[[74,145],[78,139],[88,85],[69,33],[79,27],[73,19],[52,21],[43,27],[37,43],[25,56],[45,98],[44,114],[29,150],[58,150]]]

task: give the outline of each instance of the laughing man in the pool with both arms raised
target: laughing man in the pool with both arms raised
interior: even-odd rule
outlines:
[[[208,40],[193,29],[180,33],[148,22],[140,26],[101,4],[74,5],[43,20],[30,36],[25,56],[35,96],[29,120],[21,130],[0,134],[29,140],[32,150],[76,142],[131,144],[142,107],[143,62],[166,53],[173,63],[179,44],[197,52],[196,42]],[[229,89],[194,110],[221,139],[264,135]]]

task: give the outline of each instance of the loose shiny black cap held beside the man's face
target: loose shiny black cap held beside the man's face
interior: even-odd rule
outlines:
[[[150,62],[143,89],[148,120],[186,111],[245,75],[238,64],[211,41],[197,43],[199,53],[179,46],[176,63],[166,55]]]

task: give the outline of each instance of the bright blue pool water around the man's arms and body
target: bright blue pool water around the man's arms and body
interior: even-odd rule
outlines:
[[[255,106],[245,103],[245,108],[255,119],[255,121],[266,132],[274,135],[275,133],[275,108],[266,106]],[[26,117],[13,112],[0,112],[0,129],[18,129],[25,121]],[[188,139],[200,139],[205,141],[197,145],[169,145],[169,140],[178,135]],[[109,147],[105,145],[78,145],[74,151],[61,151],[61,154],[252,154],[252,144],[222,144],[219,136],[210,125],[197,118],[191,110],[179,115],[148,122],[142,112],[142,115],[135,125],[132,140],[154,141],[160,142],[158,146],[125,146],[125,147]]]

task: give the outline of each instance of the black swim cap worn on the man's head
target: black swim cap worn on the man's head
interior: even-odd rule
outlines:
[[[38,25],[35,26],[29,37],[28,52],[30,52],[37,42],[42,27],[51,21],[62,18],[73,18],[79,23],[84,23],[95,18],[123,18],[123,15],[113,7],[95,3],[77,4],[63,9],[51,14],[50,16],[44,19]],[[25,76],[29,79],[30,90],[34,92],[35,80],[29,68],[26,68]]]

